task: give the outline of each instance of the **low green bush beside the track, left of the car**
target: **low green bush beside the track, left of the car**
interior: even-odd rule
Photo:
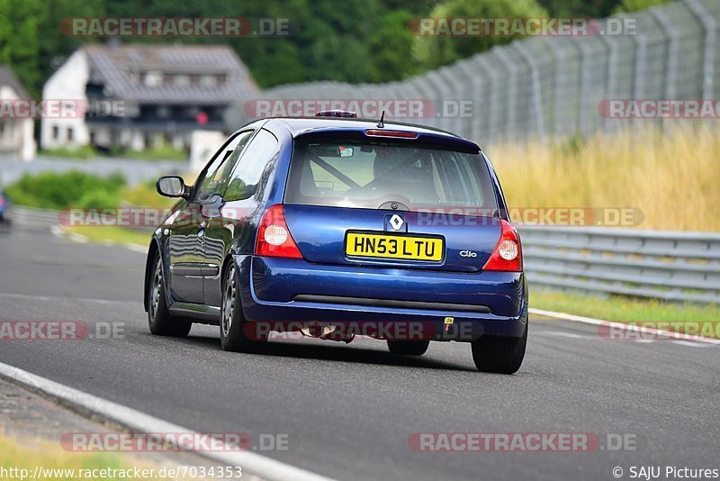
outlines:
[[[76,170],[25,174],[5,188],[14,204],[44,209],[112,207],[120,204],[125,177],[99,177]]]

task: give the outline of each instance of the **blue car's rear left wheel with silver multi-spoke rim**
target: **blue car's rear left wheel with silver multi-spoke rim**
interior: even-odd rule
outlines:
[[[220,346],[233,352],[260,352],[266,340],[252,340],[245,333],[247,322],[240,303],[237,271],[235,263],[230,262],[222,280]]]

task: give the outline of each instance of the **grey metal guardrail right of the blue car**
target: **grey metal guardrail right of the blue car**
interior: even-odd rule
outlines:
[[[720,234],[520,228],[531,286],[720,303]]]

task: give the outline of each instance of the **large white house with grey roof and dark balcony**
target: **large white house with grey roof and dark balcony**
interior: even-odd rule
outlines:
[[[93,145],[189,149],[192,132],[227,132],[231,104],[258,89],[225,45],[85,45],[43,87],[44,101],[87,104],[75,118],[43,118],[43,149]]]

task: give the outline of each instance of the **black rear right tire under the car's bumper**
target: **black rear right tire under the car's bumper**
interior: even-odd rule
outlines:
[[[480,338],[473,340],[473,361],[481,372],[514,374],[523,363],[527,346],[527,324],[521,338]]]

